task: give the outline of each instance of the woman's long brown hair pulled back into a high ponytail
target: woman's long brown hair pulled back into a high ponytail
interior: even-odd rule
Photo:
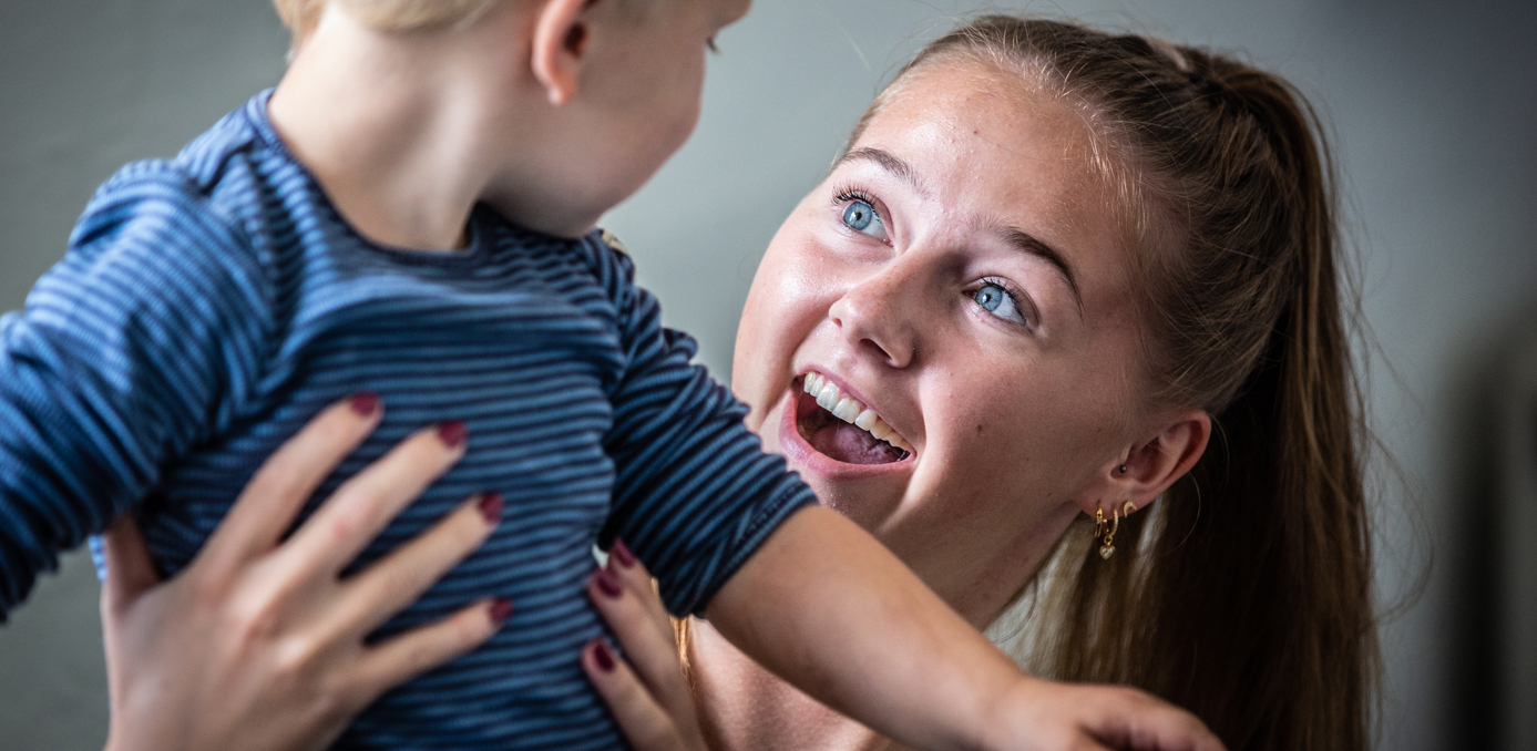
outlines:
[[[898,84],[945,60],[1105,115],[1147,280],[1153,401],[1214,425],[1194,468],[1120,524],[1122,554],[1094,554],[1087,519],[1059,542],[1030,667],[1153,691],[1233,749],[1365,749],[1379,653],[1362,405],[1316,114],[1222,57],[1010,17],[934,41]]]

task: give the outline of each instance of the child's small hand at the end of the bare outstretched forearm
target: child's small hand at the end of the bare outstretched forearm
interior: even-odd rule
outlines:
[[[1088,751],[1223,751],[1190,714],[1125,686],[1027,677],[998,706],[988,748]]]

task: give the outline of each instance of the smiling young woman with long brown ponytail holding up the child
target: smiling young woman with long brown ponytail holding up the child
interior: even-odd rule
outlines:
[[[1230,748],[1365,748],[1377,647],[1330,178],[1311,111],[1270,74],[981,18],[898,75],[785,221],[733,389],[768,450],[974,625],[1024,602],[1014,647],[1039,674],[1144,688]],[[833,415],[865,405],[911,456],[882,448],[884,425]],[[321,418],[246,502],[292,505],[366,428]],[[370,471],[413,484],[334,504],[387,518],[449,461],[403,450]],[[360,604],[275,534],[229,527],[204,556],[220,565],[166,585],[131,527],[109,538],[114,696],[146,702],[114,708],[124,746],[128,717],[323,743],[490,630],[467,611],[361,643],[475,530],[424,538],[433,553],[397,567],[398,594]],[[885,745],[705,622],[682,628],[684,676],[644,570],[622,554],[609,568],[627,587],[593,599],[626,660],[584,660],[639,748]],[[234,699],[200,705],[198,680]],[[286,742],[261,745],[278,725]]]

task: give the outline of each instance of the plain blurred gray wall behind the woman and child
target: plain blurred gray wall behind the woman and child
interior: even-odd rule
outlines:
[[[1531,3],[1382,0],[759,0],[721,37],[704,120],[607,224],[672,326],[729,376],[736,313],[779,220],[885,77],[956,15],[1030,9],[1242,49],[1334,129],[1359,250],[1362,352],[1383,453],[1379,567],[1383,748],[1489,748],[1529,714],[1532,657],[1496,613],[1509,588],[1488,384],[1537,324],[1537,12]],[[121,163],[172,155],[283,72],[263,0],[0,3],[0,310],[65,249]],[[1528,518],[1531,518],[1528,514]],[[1434,557],[1434,567],[1426,568]],[[1531,557],[1526,559],[1528,562]],[[1403,600],[1429,570],[1423,596]],[[100,748],[105,671],[89,561],[75,553],[0,627],[0,748]],[[1505,639],[1505,642],[1502,642]],[[1529,645],[1529,642],[1528,642]],[[1529,650],[1529,647],[1528,647]],[[1525,659],[1512,668],[1511,659]],[[1520,665],[1520,663],[1517,663]],[[1512,746],[1514,748],[1514,746]]]

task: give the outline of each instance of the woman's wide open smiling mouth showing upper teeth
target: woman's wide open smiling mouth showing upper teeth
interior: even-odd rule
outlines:
[[[845,464],[896,464],[913,455],[875,410],[816,372],[802,376],[795,427],[812,448]]]

